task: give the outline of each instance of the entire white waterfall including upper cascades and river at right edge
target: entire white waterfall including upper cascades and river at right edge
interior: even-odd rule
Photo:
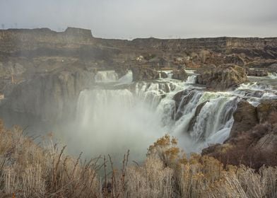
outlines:
[[[133,82],[131,71],[122,78],[114,71],[98,71],[95,85],[78,96],[75,122],[57,136],[72,152],[90,156],[110,153],[117,158],[130,149],[131,158],[142,160],[164,134],[177,137],[186,153],[201,152],[228,139],[242,98],[254,106],[277,98],[272,76],[249,77],[234,91],[215,92],[196,84],[194,71],[187,71],[187,81],[166,72],[167,78]]]

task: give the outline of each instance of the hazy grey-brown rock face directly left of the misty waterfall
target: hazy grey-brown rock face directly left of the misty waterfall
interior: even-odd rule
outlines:
[[[81,69],[37,76],[13,88],[4,107],[42,120],[68,118],[73,116],[79,93],[92,83],[93,74]]]

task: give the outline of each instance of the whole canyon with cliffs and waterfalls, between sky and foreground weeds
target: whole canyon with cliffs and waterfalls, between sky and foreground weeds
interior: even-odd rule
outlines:
[[[111,40],[41,28],[0,30],[0,43],[0,111],[67,123],[56,135],[83,143],[73,153],[131,147],[141,158],[169,133],[187,153],[220,156],[267,122],[262,105],[276,112],[277,37]]]

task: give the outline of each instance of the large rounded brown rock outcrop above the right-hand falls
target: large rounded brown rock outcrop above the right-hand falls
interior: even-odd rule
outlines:
[[[196,78],[196,82],[216,90],[235,88],[240,83],[247,82],[245,69],[237,65],[222,65],[211,71],[206,71]]]

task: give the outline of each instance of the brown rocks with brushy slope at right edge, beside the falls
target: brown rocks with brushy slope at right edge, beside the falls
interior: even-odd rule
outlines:
[[[242,100],[234,113],[235,122],[224,144],[209,146],[203,155],[218,158],[223,163],[277,165],[277,100],[264,100],[253,107]]]

